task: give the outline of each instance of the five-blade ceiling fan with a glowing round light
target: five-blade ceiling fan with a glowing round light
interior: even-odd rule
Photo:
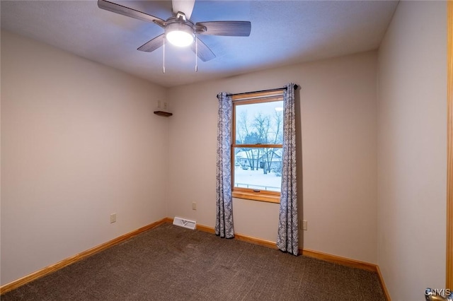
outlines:
[[[115,4],[110,1],[98,0],[98,7],[123,16],[152,22],[164,28],[162,35],[144,43],[138,50],[153,52],[165,45],[165,40],[179,47],[190,46],[202,61],[214,59],[215,54],[197,35],[224,35],[230,37],[248,37],[251,23],[248,21],[208,21],[193,23],[190,20],[195,0],[172,0],[173,16],[163,20],[134,8]],[[195,42],[195,43],[194,43]]]

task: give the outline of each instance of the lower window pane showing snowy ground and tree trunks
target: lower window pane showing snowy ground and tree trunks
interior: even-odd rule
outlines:
[[[234,148],[234,187],[279,191],[282,148]]]

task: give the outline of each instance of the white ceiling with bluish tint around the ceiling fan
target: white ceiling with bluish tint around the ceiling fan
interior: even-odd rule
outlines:
[[[171,1],[115,1],[166,19]],[[97,1],[0,1],[1,29],[172,87],[270,67],[377,49],[397,1],[195,1],[191,20],[249,20],[250,37],[202,35],[217,55],[198,60],[190,49],[137,48],[164,33],[154,23],[105,11]],[[33,51],[33,49],[30,49]]]

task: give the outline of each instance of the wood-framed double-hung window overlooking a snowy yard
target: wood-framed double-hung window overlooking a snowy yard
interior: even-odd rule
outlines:
[[[241,199],[280,202],[283,90],[233,95],[231,186]]]

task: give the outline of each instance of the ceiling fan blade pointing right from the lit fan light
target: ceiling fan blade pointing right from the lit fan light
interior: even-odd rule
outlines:
[[[205,31],[197,31],[199,35],[228,35],[231,37],[248,37],[252,25],[249,21],[210,21],[199,22],[196,26],[203,26]]]

